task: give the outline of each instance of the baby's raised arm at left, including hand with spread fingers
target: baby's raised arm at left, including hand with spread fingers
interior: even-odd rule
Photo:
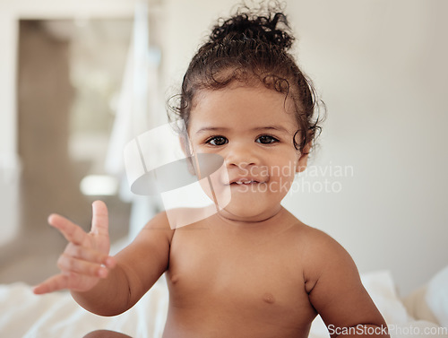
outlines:
[[[171,230],[163,213],[150,221],[134,242],[116,256],[108,256],[108,209],[96,201],[89,233],[59,215],[49,223],[69,241],[57,265],[61,273],[37,285],[43,294],[71,290],[83,308],[101,316],[125,312],[142,297],[168,267]],[[157,231],[147,231],[157,230]]]

